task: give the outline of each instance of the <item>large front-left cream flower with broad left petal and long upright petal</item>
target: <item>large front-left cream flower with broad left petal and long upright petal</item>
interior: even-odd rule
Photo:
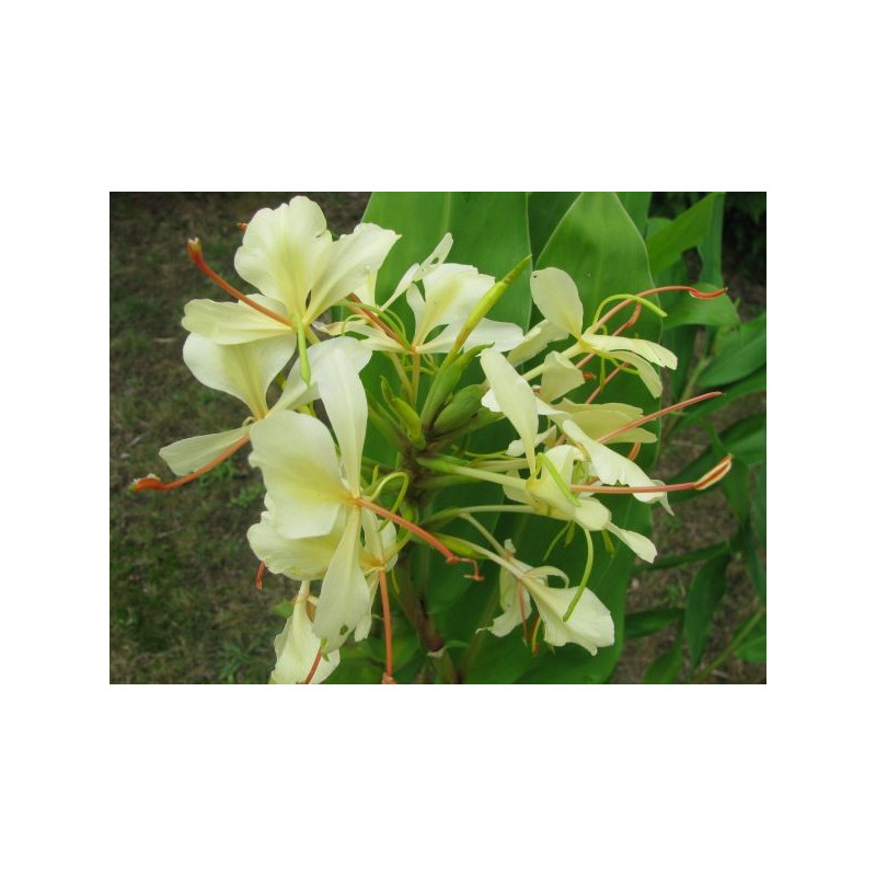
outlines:
[[[359,563],[360,468],[368,405],[356,368],[343,349],[324,358],[320,393],[332,433],[319,419],[279,411],[253,425],[250,461],[262,470],[274,528],[289,539],[327,535],[343,525],[323,576],[314,632],[325,652],[338,647],[369,612],[371,590]]]

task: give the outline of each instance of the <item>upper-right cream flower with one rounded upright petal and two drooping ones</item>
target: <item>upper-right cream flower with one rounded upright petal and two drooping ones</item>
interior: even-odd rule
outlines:
[[[557,330],[576,338],[581,351],[609,356],[632,365],[652,395],[656,397],[660,394],[660,377],[650,362],[676,368],[678,359],[675,353],[653,341],[602,335],[595,332],[592,326],[584,327],[584,306],[578,288],[565,270],[555,267],[533,270],[531,283],[532,300],[538,309]]]

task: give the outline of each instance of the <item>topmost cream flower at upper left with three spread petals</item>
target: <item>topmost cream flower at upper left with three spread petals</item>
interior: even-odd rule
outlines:
[[[241,301],[198,299],[186,304],[183,326],[218,344],[290,333],[295,338],[299,326],[351,293],[368,303],[373,277],[399,237],[362,223],[333,241],[322,210],[303,196],[258,210],[246,226],[234,267],[263,293],[247,298],[274,316]]]

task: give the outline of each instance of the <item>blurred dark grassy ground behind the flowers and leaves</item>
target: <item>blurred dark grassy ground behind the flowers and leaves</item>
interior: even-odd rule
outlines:
[[[283,620],[270,607],[292,588],[267,574],[264,590],[255,589],[257,561],[245,533],[261,514],[262,488],[246,453],[181,489],[135,495],[127,487],[149,472],[171,477],[158,456],[164,445],[232,428],[246,413],[237,400],[198,383],[183,364],[183,307],[192,298],[223,300],[189,262],[186,240],[199,237],[208,263],[238,283],[237,223],[295,194],[310,194],[335,233],[350,231],[368,203],[368,193],[111,195],[111,682],[264,683],[273,668],[273,638]],[[765,307],[765,212],[761,267],[750,228],[733,221],[734,203],[728,199],[727,277],[744,310],[756,313]],[[765,210],[765,197],[763,203]],[[763,406],[765,399],[747,404]],[[688,440],[695,442],[695,434]],[[679,448],[678,468],[698,452],[694,446]],[[666,464],[675,464],[671,456]],[[670,480],[671,473],[657,474]],[[693,550],[714,541],[725,525],[733,526],[731,516],[726,521],[721,516],[726,509],[719,497],[711,499],[714,507],[710,498],[681,506],[677,518],[655,515],[656,521],[662,518],[655,529],[661,554]],[[748,611],[751,587],[741,568],[737,572],[734,577],[731,566],[728,598],[715,619],[706,659],[729,641]],[[681,574],[647,573],[635,579],[631,608],[683,601]],[[662,646],[660,636],[629,643],[614,680],[637,681]],[[765,679],[765,666],[731,660],[724,670],[715,681]]]

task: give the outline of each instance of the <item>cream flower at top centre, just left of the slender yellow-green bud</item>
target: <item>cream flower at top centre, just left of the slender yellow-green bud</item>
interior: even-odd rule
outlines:
[[[445,264],[452,242],[450,234],[446,234],[423,264],[412,265],[383,306],[389,307],[402,292],[405,293],[414,312],[414,336],[408,347],[368,323],[335,323],[328,331],[354,331],[362,335],[364,343],[372,349],[392,353],[412,350],[419,355],[449,353],[465,320],[495,285],[494,277],[480,274],[472,265]],[[423,284],[423,292],[417,288],[417,283]],[[443,331],[430,337],[441,326]],[[463,349],[481,344],[493,344],[496,349],[510,349],[520,343],[522,336],[520,327],[514,323],[484,319],[465,339]]]

